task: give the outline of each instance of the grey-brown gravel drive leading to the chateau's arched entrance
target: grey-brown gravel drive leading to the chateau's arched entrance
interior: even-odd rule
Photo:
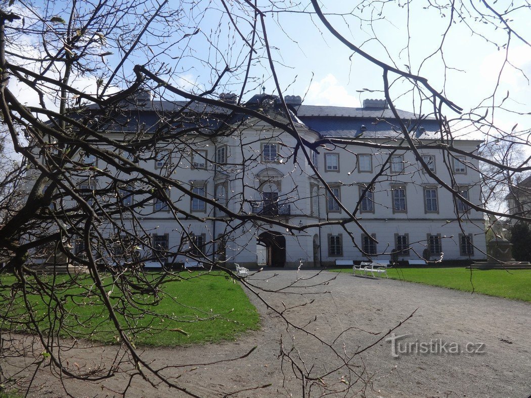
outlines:
[[[262,315],[260,331],[247,333],[235,342],[146,349],[142,358],[173,383],[204,397],[235,391],[239,392],[230,396],[531,394],[528,303],[346,273],[323,272],[311,278],[314,274],[281,270],[249,277],[256,286],[282,289],[281,293],[262,291],[260,298],[248,291]],[[284,319],[261,299],[284,310],[295,326],[305,326],[312,334],[287,327]],[[406,336],[395,341],[393,357],[386,334],[397,325],[400,326],[393,333]],[[321,378],[303,383],[300,376],[296,377],[286,357],[279,359],[280,338],[284,351],[297,366],[311,369],[311,375]],[[331,343],[331,348],[323,342]],[[74,349],[63,353],[72,367],[108,369],[116,356],[125,355],[119,347],[82,349],[80,343],[74,345]],[[215,363],[241,357],[255,346],[243,359]],[[405,349],[409,352],[401,352]],[[459,352],[452,352],[455,350]],[[358,351],[362,352],[354,355]],[[347,357],[352,357],[351,371],[345,367],[334,371]],[[5,361],[2,368],[15,374],[21,365],[22,360],[14,357]],[[67,377],[58,379],[43,366],[36,373],[36,384],[29,395],[121,396],[125,391],[125,396],[132,397],[186,396],[155,378],[151,378],[152,385],[139,375],[131,377],[136,373],[131,365],[122,365],[122,370],[113,378],[90,384]],[[268,386],[257,388],[265,385]]]

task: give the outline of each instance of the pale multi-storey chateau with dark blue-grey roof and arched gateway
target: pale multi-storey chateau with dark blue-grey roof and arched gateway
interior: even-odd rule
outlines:
[[[230,94],[221,98],[233,100]],[[107,125],[107,136],[120,140],[138,125],[149,129],[177,111],[203,115],[204,134],[176,134],[157,142],[152,155],[138,163],[177,179],[194,194],[167,191],[182,214],[170,211],[164,198],[145,202],[136,214],[150,231],[153,247],[179,253],[168,262],[185,262],[188,255],[194,261],[204,256],[242,266],[294,267],[302,262],[320,267],[336,259],[388,259],[391,253],[404,260],[485,257],[483,214],[466,203],[480,201],[478,161],[470,156],[479,141],[453,140],[458,154],[442,150],[435,119],[419,120],[399,111],[438,181],[409,150],[385,101],[365,100],[362,108],[347,108],[302,105],[300,97],[287,96],[286,103],[301,139],[322,140],[317,151],[306,150],[306,156],[296,136],[259,118],[197,103],[146,100],[127,123],[114,120]],[[278,126],[289,124],[278,98],[256,95],[245,106]],[[181,131],[185,129],[184,124]],[[217,134],[209,134],[214,130]],[[106,167],[96,157],[85,161]],[[121,194],[124,206],[131,206],[145,195],[138,193],[140,182],[134,176],[127,178],[132,189],[121,188]],[[88,188],[106,182],[82,184]],[[228,213],[261,217],[235,220],[211,201],[226,205]],[[290,229],[272,220],[308,227]]]

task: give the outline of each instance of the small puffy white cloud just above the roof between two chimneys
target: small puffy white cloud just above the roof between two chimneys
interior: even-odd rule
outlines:
[[[339,84],[336,76],[329,73],[320,81],[310,84],[304,103],[306,105],[333,105],[359,107],[359,100],[350,95],[345,86]]]

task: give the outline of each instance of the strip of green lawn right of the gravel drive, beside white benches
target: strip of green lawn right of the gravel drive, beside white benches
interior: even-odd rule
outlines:
[[[352,273],[352,269],[335,270]],[[531,301],[531,270],[467,270],[460,268],[391,268],[389,278],[482,295]],[[357,272],[356,274],[360,274]],[[385,278],[385,276],[383,276]]]

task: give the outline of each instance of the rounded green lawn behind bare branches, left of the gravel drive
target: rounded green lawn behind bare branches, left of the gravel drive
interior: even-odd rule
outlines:
[[[183,279],[164,281],[156,296],[141,292],[123,295],[119,283],[113,283],[110,276],[104,278],[105,290],[109,292],[119,322],[134,344],[172,346],[234,340],[247,330],[259,328],[258,311],[239,283],[234,283],[227,274],[186,272],[181,275]],[[149,277],[156,280],[160,274]],[[2,329],[34,332],[25,324],[29,314],[23,306],[21,289],[17,290],[15,300],[10,298],[10,292],[15,291],[14,276],[2,276],[0,281],[0,313],[3,319],[8,319],[2,323]],[[35,280],[28,277],[28,282],[34,284]],[[89,276],[74,281],[61,275],[54,286],[54,294],[63,308],[56,302],[49,306],[49,295],[40,295],[39,289],[28,295],[31,313],[45,334],[54,332],[104,343],[118,342],[118,334]]]

